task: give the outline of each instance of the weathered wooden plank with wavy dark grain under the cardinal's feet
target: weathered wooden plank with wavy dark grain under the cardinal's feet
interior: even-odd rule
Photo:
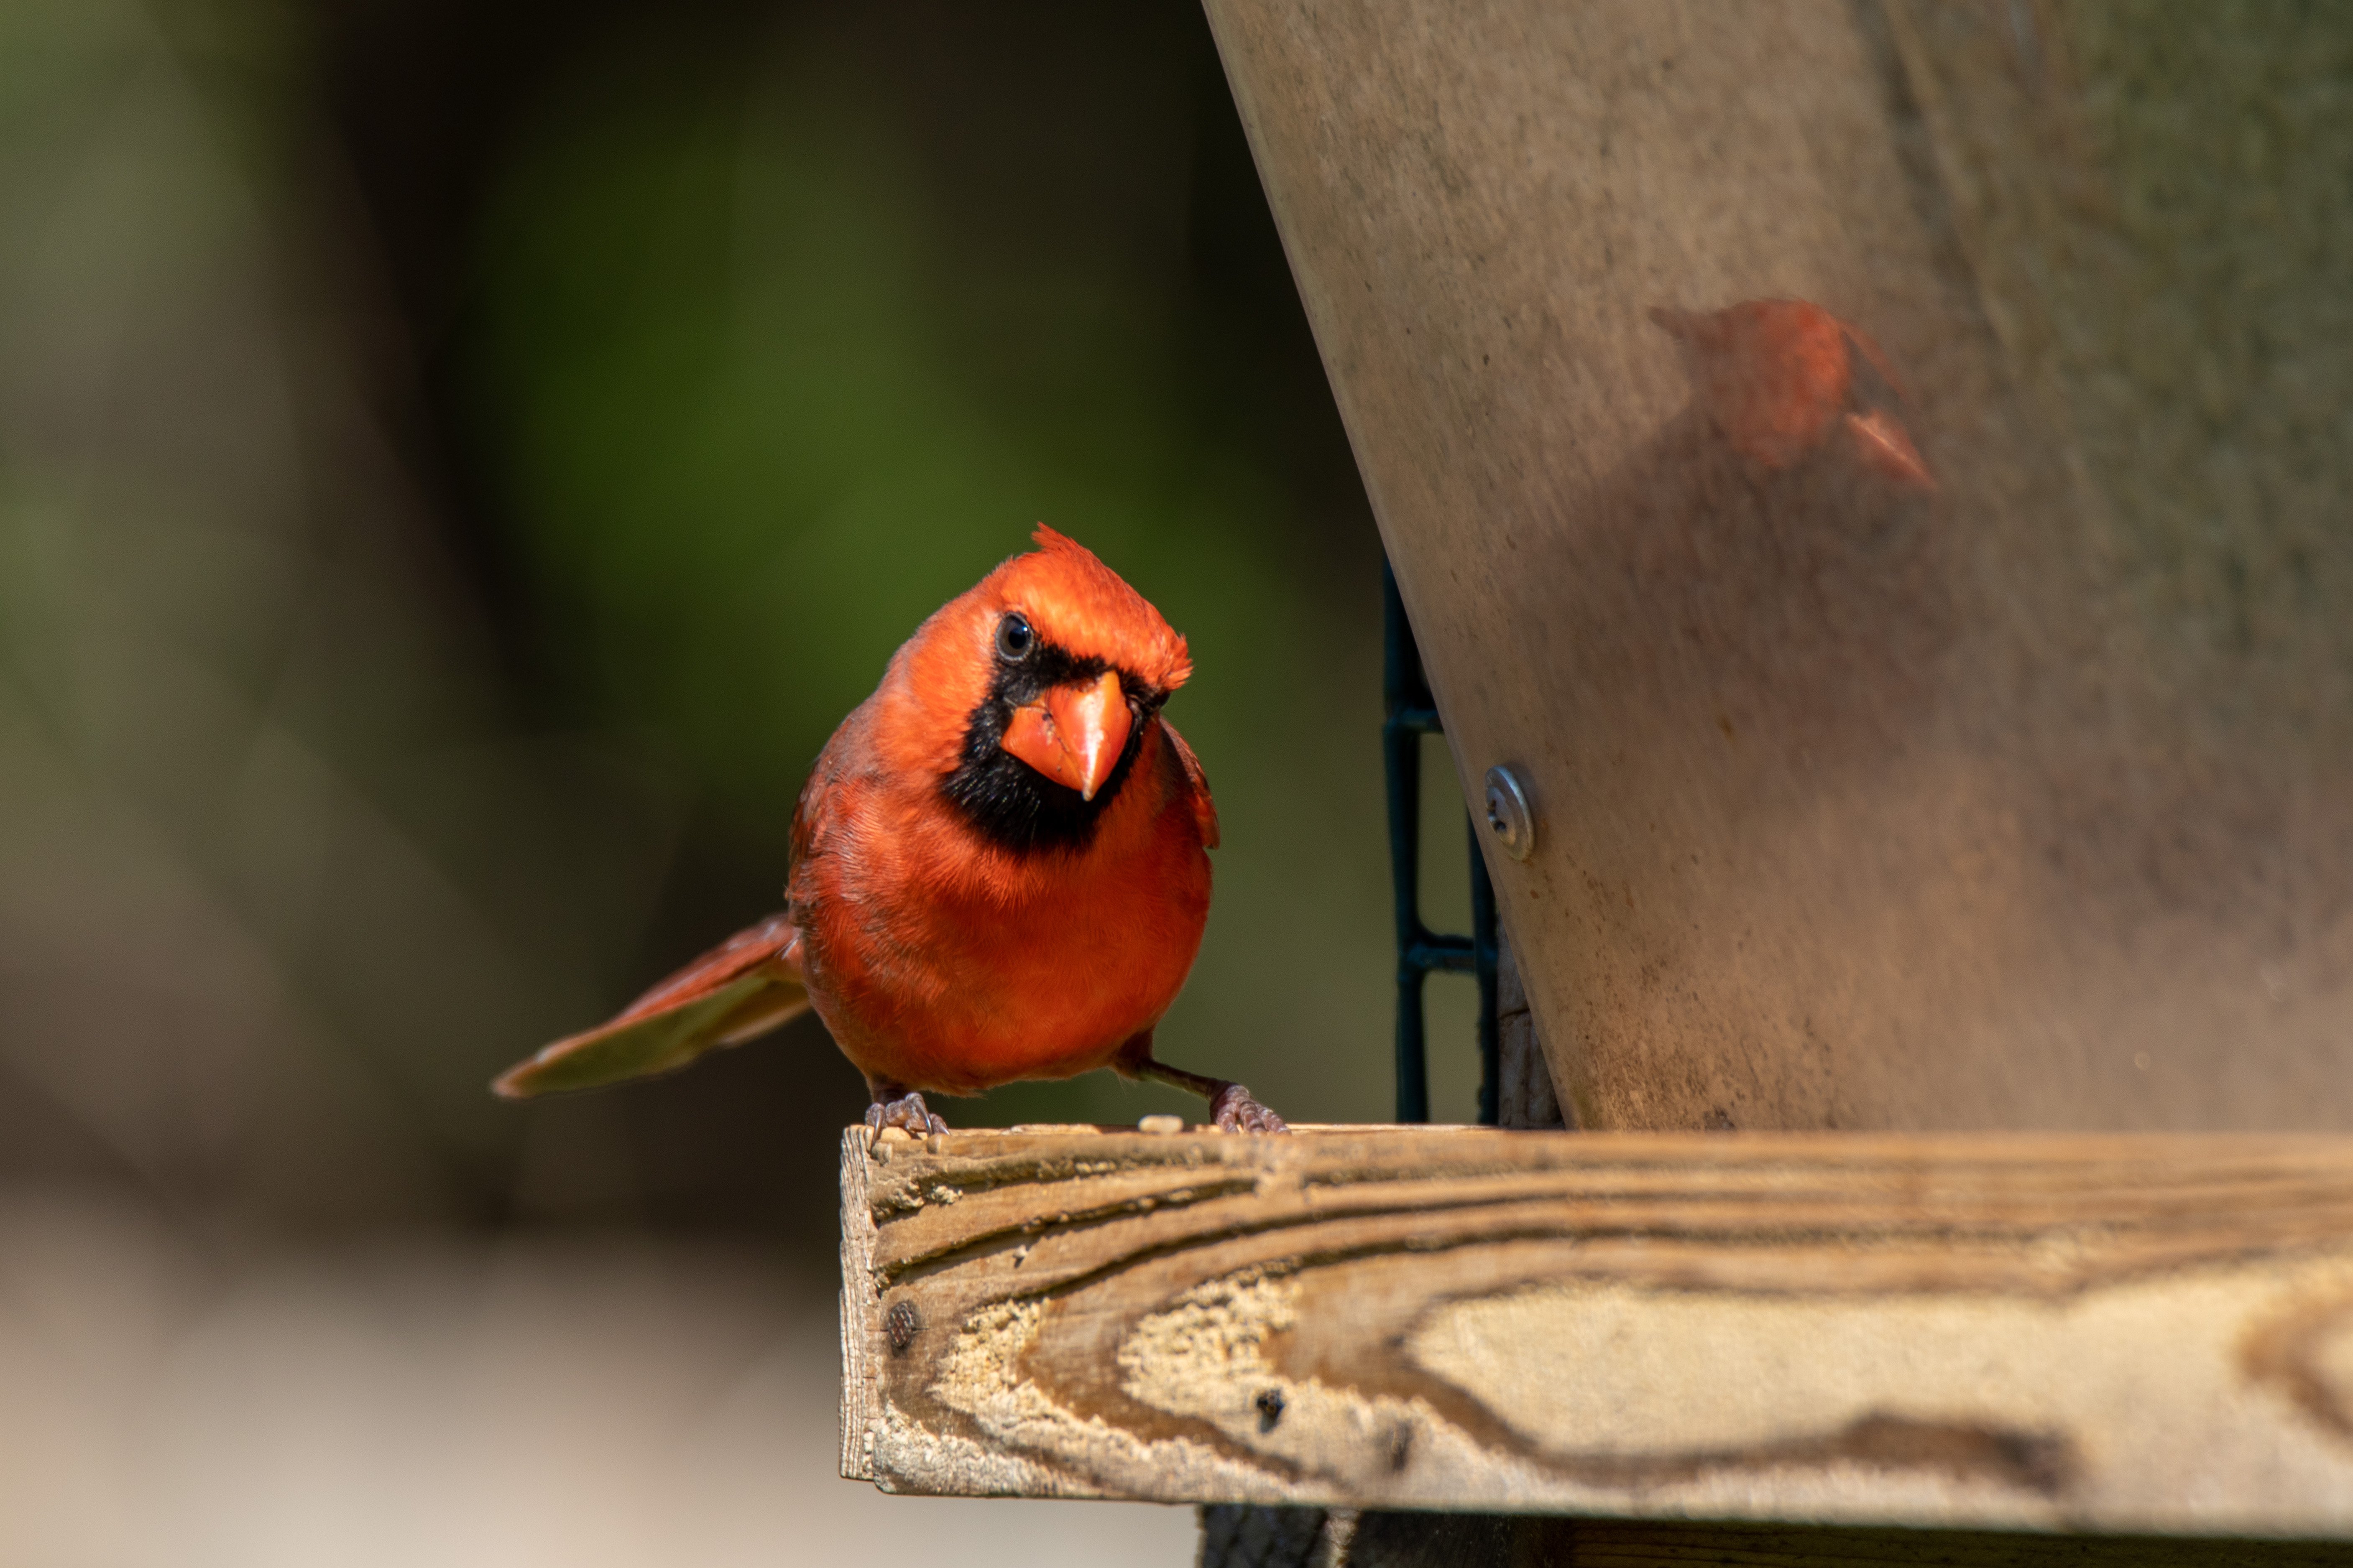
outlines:
[[[842,1147],[892,1490],[2353,1535],[2353,1140]]]

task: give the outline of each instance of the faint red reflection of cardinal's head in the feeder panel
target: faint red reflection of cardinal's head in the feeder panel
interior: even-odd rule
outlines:
[[[1722,310],[1654,308],[1678,339],[1699,404],[1751,463],[1791,468],[1833,430],[1864,465],[1934,489],[1897,418],[1887,357],[1861,329],[1802,299],[1751,299]]]

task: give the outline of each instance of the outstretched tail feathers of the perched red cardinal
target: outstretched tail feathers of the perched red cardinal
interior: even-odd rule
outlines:
[[[515,1063],[492,1088],[522,1100],[671,1072],[706,1051],[767,1034],[807,1009],[800,929],[791,914],[772,914],[638,997],[612,1023]]]

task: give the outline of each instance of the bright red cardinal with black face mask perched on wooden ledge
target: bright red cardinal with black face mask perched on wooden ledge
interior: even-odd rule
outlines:
[[[1240,1084],[1153,1060],[1209,919],[1209,780],[1160,705],[1184,637],[1054,529],[953,599],[842,719],[793,811],[791,900],[496,1081],[501,1095],[682,1067],[814,1006],[866,1124],[939,1133],[969,1095],[1094,1067],[1285,1131]]]

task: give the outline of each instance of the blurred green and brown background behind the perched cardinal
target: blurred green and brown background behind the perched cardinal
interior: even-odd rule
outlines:
[[[1188,0],[12,0],[0,214],[0,1556],[875,1528],[824,1030],[485,1084],[776,907],[807,762],[1038,520],[1198,661],[1162,1053],[1388,1114],[1379,543]],[[682,1410],[774,1462],[659,1481]]]

